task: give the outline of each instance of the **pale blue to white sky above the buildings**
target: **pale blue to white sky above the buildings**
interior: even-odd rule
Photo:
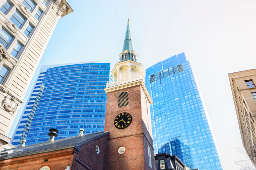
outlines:
[[[49,64],[98,60],[114,65],[129,16],[138,62],[145,69],[185,53],[205,100],[223,169],[239,169],[234,161],[245,157],[237,149],[243,146],[228,73],[256,68],[255,1],[68,2],[74,12],[59,20],[36,74]]]

